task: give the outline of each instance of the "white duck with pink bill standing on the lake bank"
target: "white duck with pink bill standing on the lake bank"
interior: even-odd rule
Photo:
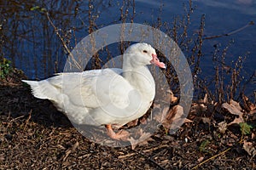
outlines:
[[[143,116],[155,95],[154,78],[148,66],[166,68],[147,43],[136,43],[125,50],[123,69],[111,68],[60,73],[42,81],[25,81],[32,94],[49,99],[76,124],[105,125],[108,136],[121,139],[111,125],[123,126]]]

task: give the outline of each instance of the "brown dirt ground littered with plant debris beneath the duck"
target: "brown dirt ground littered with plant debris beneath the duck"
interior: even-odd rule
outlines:
[[[48,100],[34,98],[22,77],[0,83],[0,169],[256,168],[255,127],[245,134],[236,123],[221,128],[237,116],[218,105],[195,104],[191,122],[173,135],[160,126],[134,150],[113,148],[86,139]],[[254,112],[243,111],[245,122],[255,125]]]

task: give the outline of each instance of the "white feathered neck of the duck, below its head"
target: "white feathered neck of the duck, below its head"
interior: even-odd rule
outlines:
[[[130,82],[133,88],[136,88],[144,99],[152,101],[155,94],[154,78],[148,70],[148,66],[142,65],[131,67],[123,65],[123,77]]]

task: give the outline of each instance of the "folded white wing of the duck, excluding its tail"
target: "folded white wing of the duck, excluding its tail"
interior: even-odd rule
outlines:
[[[119,75],[119,69],[84,71],[83,73],[63,73],[60,80],[50,80],[53,86],[61,89],[73,105],[96,108],[109,103],[127,105],[127,91],[131,85]]]

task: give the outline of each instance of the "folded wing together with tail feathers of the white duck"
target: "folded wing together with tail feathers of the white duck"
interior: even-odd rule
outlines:
[[[74,105],[95,109],[109,105],[120,108],[129,105],[129,92],[133,89],[121,69],[91,70],[75,73],[59,73],[43,81],[23,81],[32,88],[39,99],[51,100],[58,109]]]

